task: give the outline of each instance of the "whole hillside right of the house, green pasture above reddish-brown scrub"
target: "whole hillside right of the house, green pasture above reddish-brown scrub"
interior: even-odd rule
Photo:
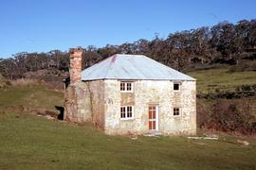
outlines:
[[[197,127],[256,133],[256,72],[240,67],[222,65],[188,73],[197,79]]]

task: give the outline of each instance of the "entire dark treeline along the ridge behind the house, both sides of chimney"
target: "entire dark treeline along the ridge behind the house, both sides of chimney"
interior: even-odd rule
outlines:
[[[240,59],[256,59],[256,20],[237,24],[222,22],[215,26],[171,33],[167,38],[155,35],[152,41],[140,39],[121,45],[107,44],[84,48],[84,67],[113,54],[143,54],[177,70],[188,70],[214,63],[237,63]],[[0,73],[22,77],[27,72],[42,69],[68,71],[68,54],[60,50],[47,53],[18,53],[0,59]]]

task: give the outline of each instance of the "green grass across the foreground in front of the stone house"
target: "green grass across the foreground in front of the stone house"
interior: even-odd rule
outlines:
[[[224,138],[224,137],[223,137]],[[27,114],[0,115],[0,169],[253,169],[256,142],[249,146],[186,137],[107,136]]]

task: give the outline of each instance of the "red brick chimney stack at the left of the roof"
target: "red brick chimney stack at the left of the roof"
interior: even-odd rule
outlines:
[[[74,84],[77,81],[81,81],[82,73],[82,48],[70,48],[70,84]]]

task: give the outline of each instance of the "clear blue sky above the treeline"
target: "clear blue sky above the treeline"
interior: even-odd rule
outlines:
[[[255,0],[1,0],[0,58],[256,19]]]

